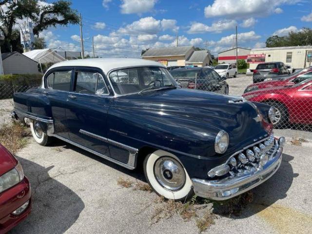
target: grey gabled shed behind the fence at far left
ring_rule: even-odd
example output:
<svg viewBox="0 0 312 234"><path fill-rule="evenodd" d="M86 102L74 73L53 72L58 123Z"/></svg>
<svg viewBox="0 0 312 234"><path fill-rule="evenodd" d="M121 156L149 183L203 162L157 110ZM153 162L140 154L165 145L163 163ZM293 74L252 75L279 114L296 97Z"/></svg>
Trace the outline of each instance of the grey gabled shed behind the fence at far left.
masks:
<svg viewBox="0 0 312 234"><path fill-rule="evenodd" d="M1 54L4 74L31 74L39 73L38 63L33 59L20 54L10 52Z"/></svg>

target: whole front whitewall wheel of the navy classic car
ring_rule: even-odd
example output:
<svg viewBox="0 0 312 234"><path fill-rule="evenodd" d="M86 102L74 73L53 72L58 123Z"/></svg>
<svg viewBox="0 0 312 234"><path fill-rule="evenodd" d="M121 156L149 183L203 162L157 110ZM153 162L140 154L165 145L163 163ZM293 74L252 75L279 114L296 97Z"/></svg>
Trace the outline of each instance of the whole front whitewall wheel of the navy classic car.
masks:
<svg viewBox="0 0 312 234"><path fill-rule="evenodd" d="M182 201L194 194L189 175L173 154L157 150L146 156L143 169L146 180L156 194L166 199Z"/></svg>

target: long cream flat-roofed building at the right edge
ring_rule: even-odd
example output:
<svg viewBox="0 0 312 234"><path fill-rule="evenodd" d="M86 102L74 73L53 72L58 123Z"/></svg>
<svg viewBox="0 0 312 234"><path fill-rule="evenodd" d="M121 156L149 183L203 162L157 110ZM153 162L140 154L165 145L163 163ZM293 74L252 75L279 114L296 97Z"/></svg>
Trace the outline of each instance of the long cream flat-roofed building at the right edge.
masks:
<svg viewBox="0 0 312 234"><path fill-rule="evenodd" d="M312 65L312 46L288 46L252 49L250 55L262 56L265 62L283 62L292 68L305 68ZM258 63L250 63L254 70Z"/></svg>

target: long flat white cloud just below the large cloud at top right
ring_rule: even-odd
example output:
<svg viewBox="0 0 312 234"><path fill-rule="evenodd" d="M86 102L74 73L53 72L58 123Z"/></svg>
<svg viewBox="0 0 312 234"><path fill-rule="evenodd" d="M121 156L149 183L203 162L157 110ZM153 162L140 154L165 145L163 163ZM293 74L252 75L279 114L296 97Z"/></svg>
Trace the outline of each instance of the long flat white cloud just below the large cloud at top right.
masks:
<svg viewBox="0 0 312 234"><path fill-rule="evenodd" d="M219 20L214 22L211 26L203 23L193 22L187 32L189 34L206 32L221 33L224 30L234 29L236 24L237 22L235 20Z"/></svg>

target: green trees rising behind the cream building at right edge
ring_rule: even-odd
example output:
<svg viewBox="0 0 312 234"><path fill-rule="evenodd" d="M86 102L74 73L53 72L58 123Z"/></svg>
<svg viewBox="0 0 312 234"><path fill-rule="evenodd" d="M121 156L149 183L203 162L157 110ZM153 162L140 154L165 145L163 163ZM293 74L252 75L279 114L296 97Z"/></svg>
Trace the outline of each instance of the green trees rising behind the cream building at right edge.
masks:
<svg viewBox="0 0 312 234"><path fill-rule="evenodd" d="M288 36L279 37L277 35L267 39L267 47L280 46L298 46L298 45L312 45L312 29L302 28L298 32L290 32Z"/></svg>

